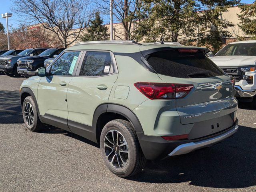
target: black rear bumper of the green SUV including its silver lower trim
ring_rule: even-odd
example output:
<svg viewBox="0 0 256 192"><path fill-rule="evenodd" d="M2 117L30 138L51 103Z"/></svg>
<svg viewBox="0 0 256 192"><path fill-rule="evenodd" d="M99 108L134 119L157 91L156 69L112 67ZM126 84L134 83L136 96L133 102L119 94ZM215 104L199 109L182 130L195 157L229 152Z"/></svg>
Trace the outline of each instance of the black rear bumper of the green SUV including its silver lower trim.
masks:
<svg viewBox="0 0 256 192"><path fill-rule="evenodd" d="M141 132L137 132L137 136L146 159L161 160L169 156L186 154L200 148L212 146L232 136L237 130L238 120L226 130L198 140L167 141L160 136L147 136Z"/></svg>

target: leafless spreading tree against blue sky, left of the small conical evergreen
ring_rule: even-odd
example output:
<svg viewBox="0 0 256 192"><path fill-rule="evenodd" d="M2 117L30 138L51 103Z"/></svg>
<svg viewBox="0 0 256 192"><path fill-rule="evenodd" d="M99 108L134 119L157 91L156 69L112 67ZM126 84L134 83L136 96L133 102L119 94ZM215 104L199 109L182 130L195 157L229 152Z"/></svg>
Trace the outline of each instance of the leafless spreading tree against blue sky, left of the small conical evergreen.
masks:
<svg viewBox="0 0 256 192"><path fill-rule="evenodd" d="M30 24L50 30L64 47L76 42L88 26L89 0L12 0L12 11ZM76 30L74 30L76 28Z"/></svg>

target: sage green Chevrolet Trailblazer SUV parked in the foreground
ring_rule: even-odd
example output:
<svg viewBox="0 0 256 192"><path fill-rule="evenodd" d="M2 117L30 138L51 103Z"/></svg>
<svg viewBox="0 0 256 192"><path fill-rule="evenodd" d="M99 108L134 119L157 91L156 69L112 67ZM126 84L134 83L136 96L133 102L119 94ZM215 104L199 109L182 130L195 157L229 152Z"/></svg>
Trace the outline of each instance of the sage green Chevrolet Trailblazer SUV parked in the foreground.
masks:
<svg viewBox="0 0 256 192"><path fill-rule="evenodd" d="M146 160L212 146L238 130L234 80L177 43L81 42L20 87L27 128L44 124L100 144L120 177ZM90 157L88 157L90 158Z"/></svg>

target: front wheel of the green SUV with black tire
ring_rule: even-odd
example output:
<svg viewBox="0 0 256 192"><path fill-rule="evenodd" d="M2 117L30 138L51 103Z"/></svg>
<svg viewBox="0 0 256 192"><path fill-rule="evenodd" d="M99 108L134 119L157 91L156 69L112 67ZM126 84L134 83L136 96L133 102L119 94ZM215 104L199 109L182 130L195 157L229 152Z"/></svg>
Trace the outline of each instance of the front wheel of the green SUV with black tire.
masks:
<svg viewBox="0 0 256 192"><path fill-rule="evenodd" d="M28 114L28 109L31 109L30 106L32 108L32 111ZM38 132L42 128L44 128L44 124L40 121L40 119L38 117L37 110L36 110L36 104L35 104L32 96L28 96L25 98L25 100L22 104L22 115L23 115L23 120L25 122L25 125L30 131ZM31 118L32 116L34 119L33 121ZM30 118L30 121L28 121L28 118Z"/></svg>

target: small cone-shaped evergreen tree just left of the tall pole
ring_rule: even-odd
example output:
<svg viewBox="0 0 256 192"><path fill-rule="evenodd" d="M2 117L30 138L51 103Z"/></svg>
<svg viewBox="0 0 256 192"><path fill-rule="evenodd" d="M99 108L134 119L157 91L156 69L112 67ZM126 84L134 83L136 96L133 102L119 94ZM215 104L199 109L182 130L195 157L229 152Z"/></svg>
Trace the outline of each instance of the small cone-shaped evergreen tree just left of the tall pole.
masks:
<svg viewBox="0 0 256 192"><path fill-rule="evenodd" d="M103 20L100 18L100 13L95 13L94 20L90 20L89 27L86 29L87 33L80 39L82 41L102 41L108 40L108 28L103 25Z"/></svg>

